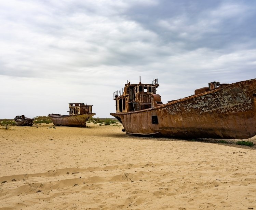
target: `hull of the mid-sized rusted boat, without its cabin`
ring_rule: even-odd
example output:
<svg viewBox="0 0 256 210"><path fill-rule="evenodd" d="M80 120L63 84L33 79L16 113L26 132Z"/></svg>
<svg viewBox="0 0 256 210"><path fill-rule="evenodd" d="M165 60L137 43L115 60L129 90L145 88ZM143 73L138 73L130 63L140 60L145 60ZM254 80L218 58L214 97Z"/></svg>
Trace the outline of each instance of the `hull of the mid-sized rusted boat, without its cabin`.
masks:
<svg viewBox="0 0 256 210"><path fill-rule="evenodd" d="M95 113L78 114L78 115L62 115L62 114L49 114L54 125L59 126L81 126L86 127L86 121L94 116Z"/></svg>

